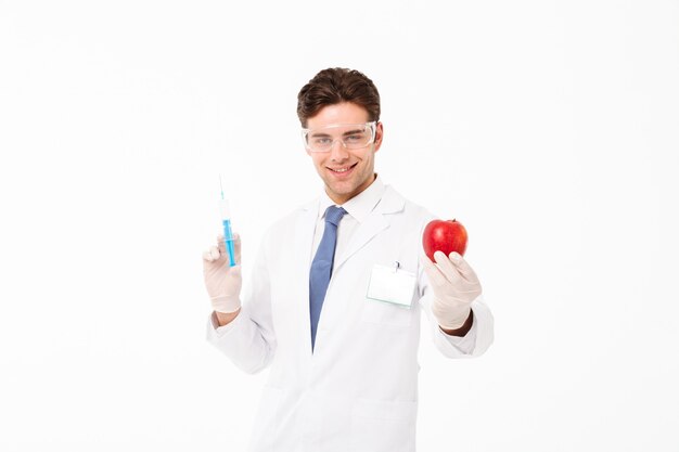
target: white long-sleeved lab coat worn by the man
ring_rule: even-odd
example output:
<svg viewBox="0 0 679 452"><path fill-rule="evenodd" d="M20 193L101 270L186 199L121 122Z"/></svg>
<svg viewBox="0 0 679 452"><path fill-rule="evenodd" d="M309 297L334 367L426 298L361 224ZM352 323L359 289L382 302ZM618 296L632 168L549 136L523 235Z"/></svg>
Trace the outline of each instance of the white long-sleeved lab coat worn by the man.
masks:
<svg viewBox="0 0 679 452"><path fill-rule="evenodd" d="M431 318L419 255L422 230L433 217L386 186L336 257L312 353L309 268L318 210L316 201L269 230L242 312L229 325L207 328L208 340L243 371L271 366L251 450L413 452L420 313ZM411 309L366 297L373 266L396 261L418 276ZM490 311L479 299L472 309L470 353L430 319L446 357L478 356L492 343Z"/></svg>

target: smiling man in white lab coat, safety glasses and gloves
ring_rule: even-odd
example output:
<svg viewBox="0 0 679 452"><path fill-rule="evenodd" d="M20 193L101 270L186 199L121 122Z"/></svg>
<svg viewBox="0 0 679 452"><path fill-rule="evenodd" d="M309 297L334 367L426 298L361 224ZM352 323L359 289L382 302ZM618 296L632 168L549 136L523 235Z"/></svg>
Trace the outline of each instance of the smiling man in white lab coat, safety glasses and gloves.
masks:
<svg viewBox="0 0 679 452"><path fill-rule="evenodd" d="M375 173L373 82L324 69L297 100L324 191L268 231L243 298L223 237L204 253L207 337L245 372L270 366L251 451L412 452L421 313L449 358L484 353L492 315L460 255L424 256L433 216ZM235 251L240 263L238 240Z"/></svg>

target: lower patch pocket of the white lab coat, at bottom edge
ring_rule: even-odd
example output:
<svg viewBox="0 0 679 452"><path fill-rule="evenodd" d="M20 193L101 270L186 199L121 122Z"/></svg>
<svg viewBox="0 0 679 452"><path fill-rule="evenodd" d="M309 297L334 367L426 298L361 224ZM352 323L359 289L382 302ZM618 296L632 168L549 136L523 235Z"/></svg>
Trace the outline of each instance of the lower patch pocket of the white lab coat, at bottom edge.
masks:
<svg viewBox="0 0 679 452"><path fill-rule="evenodd" d="M354 452L413 452L417 402L358 399L351 411Z"/></svg>

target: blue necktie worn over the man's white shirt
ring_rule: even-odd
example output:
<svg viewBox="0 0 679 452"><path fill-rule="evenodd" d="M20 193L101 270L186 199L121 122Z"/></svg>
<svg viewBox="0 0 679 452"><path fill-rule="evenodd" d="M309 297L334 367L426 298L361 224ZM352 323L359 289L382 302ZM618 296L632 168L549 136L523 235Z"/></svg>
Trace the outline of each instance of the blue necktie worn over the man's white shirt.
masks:
<svg viewBox="0 0 679 452"><path fill-rule="evenodd" d="M309 313L311 315L311 351L316 344L316 332L318 328L318 320L321 317L321 308L328 292L330 275L332 274L332 264L335 258L335 245L337 243L337 224L344 217L346 210L342 207L330 206L325 210L325 230L323 238L318 246L313 262L311 262L311 271L309 273Z"/></svg>

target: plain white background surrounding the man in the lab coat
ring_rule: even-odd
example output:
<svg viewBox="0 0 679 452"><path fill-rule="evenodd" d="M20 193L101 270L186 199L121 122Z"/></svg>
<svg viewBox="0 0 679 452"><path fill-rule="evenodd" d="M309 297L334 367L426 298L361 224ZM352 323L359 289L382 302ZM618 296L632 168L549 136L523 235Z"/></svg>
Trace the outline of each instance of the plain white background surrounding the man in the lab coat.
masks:
<svg viewBox="0 0 679 452"><path fill-rule="evenodd" d="M679 3L591 0L0 1L0 450L244 450L218 173L249 279L321 188L295 107L330 66L496 315L477 360L423 337L419 450L677 451Z"/></svg>

